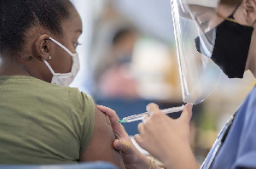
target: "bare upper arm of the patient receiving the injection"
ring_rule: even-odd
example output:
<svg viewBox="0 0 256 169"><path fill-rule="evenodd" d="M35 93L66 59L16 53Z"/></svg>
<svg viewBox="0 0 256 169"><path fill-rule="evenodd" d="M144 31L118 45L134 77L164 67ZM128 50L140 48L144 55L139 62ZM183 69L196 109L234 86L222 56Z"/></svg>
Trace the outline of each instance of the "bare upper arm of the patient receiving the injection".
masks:
<svg viewBox="0 0 256 169"><path fill-rule="evenodd" d="M119 168L125 168L121 155L113 149L115 136L109 120L95 106L95 124L90 144L80 155L80 161L109 161Z"/></svg>

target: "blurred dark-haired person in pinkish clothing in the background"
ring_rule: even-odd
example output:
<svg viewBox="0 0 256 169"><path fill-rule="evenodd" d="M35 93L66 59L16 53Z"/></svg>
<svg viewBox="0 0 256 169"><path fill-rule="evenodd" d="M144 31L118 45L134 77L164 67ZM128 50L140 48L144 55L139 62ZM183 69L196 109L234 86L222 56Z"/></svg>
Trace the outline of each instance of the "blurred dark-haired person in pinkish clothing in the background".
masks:
<svg viewBox="0 0 256 169"><path fill-rule="evenodd" d="M138 98L137 79L131 70L136 42L137 31L133 28L121 28L114 33L109 53L96 68L95 81L100 97Z"/></svg>

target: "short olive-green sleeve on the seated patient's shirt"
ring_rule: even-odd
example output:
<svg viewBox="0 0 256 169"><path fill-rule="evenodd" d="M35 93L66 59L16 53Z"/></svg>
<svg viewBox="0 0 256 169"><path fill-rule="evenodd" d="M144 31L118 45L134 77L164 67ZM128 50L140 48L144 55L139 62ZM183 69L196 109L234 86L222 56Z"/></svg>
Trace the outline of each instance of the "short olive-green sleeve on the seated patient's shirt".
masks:
<svg viewBox="0 0 256 169"><path fill-rule="evenodd" d="M78 88L69 89L69 113L73 121L75 134L80 143L80 154L86 149L92 138L95 121L95 104L93 99Z"/></svg>

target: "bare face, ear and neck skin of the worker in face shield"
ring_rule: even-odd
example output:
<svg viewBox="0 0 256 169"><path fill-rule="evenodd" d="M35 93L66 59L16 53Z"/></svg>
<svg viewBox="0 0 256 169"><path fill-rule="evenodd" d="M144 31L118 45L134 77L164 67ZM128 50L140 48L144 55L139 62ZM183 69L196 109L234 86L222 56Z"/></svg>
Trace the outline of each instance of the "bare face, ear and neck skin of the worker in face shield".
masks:
<svg viewBox="0 0 256 169"><path fill-rule="evenodd" d="M232 14L232 12L236 8L236 4L234 6L228 6L225 4L220 4L218 6L218 14L221 14L223 17L218 17L216 16L216 11L213 10L212 8L206 8L206 7L201 7L198 5L191 5L190 8L192 8L193 14L195 14L196 19L199 20L199 22L203 23L205 20L211 20L208 23L208 29L204 31L209 31L213 27L219 25L221 22L224 21L224 18L227 18ZM253 31L253 36L251 40L251 46L249 49L248 53L248 58L247 58L247 65L246 65L246 70L250 70L253 73L253 76L256 77L256 49L253 48L256 43L256 1L255 0L243 0L241 2L241 5L239 8L237 8L236 13L234 14L235 20L241 24L241 25L247 25L247 26L252 26L254 28ZM188 16L185 16L188 17ZM189 18L189 17L188 17Z"/></svg>

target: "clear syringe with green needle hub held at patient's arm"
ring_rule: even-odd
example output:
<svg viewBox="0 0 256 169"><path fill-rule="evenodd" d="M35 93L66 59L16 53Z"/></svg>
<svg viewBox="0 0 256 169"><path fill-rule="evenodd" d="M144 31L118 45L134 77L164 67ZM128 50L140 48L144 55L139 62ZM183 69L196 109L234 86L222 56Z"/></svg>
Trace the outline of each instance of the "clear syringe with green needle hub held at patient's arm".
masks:
<svg viewBox="0 0 256 169"><path fill-rule="evenodd" d="M178 111L182 111L184 109L184 105L179 106L179 107L172 107L169 109L165 109L165 110L161 110L163 113L165 114L170 114L170 113L175 113ZM142 114L138 114L138 115L131 115L131 116L127 116L124 117L123 119L116 121L116 122L120 122L120 123L124 123L124 122L133 122L133 121L139 121L139 120L143 120L144 115L147 115L148 112L142 113ZM115 123L115 122L113 122Z"/></svg>

